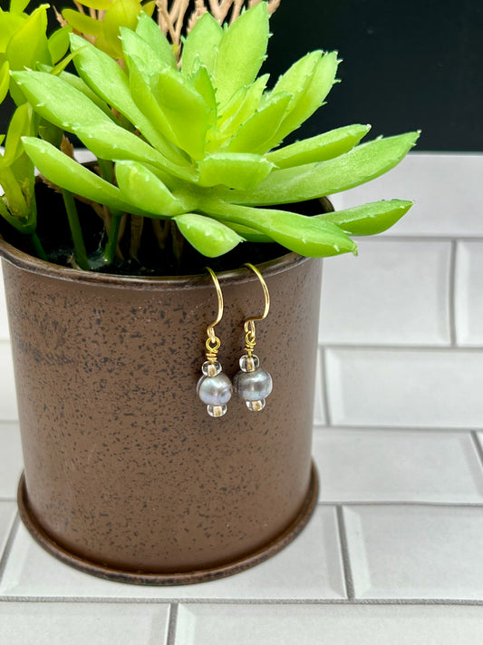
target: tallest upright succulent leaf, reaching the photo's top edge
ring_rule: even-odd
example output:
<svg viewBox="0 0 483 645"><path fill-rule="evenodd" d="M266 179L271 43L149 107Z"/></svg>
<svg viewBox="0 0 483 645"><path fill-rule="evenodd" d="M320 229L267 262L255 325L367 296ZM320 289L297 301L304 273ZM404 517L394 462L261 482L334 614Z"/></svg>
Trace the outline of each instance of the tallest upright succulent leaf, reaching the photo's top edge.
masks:
<svg viewBox="0 0 483 645"><path fill-rule="evenodd" d="M266 58L268 36L265 2L240 15L223 34L214 74L217 100L222 106L238 88L255 81Z"/></svg>

